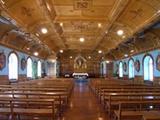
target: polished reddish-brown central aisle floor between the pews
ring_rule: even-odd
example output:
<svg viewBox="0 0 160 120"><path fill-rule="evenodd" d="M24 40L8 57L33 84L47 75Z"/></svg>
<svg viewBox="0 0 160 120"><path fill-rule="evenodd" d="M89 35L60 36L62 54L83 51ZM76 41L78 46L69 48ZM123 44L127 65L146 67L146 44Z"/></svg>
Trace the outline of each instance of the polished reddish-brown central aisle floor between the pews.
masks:
<svg viewBox="0 0 160 120"><path fill-rule="evenodd" d="M75 83L70 107L62 120L109 120L86 82Z"/></svg>

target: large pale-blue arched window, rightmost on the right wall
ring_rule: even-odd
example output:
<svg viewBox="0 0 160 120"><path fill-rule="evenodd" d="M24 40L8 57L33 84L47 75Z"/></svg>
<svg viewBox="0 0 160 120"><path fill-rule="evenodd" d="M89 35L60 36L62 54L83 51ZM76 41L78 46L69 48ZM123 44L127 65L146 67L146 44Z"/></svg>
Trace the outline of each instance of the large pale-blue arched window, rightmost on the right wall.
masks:
<svg viewBox="0 0 160 120"><path fill-rule="evenodd" d="M153 80L153 59L151 56L146 56L143 60L144 80Z"/></svg>

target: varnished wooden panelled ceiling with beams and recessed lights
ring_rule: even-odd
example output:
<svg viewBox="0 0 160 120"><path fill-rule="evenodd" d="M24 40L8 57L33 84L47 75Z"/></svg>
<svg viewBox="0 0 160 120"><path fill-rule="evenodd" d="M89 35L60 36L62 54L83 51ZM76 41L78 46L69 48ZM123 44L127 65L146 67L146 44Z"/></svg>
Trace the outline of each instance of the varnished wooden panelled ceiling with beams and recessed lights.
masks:
<svg viewBox="0 0 160 120"><path fill-rule="evenodd" d="M74 53L118 59L127 53L125 48L142 50L141 45L136 48L143 44L139 33L159 21L160 0L0 0L0 12L1 44L30 54L38 51L43 58L64 50L67 57ZM118 36L118 30L124 34Z"/></svg>

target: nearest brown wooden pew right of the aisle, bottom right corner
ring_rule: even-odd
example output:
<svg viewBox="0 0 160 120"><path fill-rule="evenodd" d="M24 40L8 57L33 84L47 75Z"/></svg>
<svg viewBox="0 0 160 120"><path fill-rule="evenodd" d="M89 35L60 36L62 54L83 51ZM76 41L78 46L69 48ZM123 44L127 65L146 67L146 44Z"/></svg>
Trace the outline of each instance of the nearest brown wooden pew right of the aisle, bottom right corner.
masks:
<svg viewBox="0 0 160 120"><path fill-rule="evenodd" d="M118 103L119 109L114 110L116 120L123 120L124 118L135 118L141 120L142 118L153 118L153 114L159 113L159 100L145 100L145 101L121 101ZM159 118L157 115L155 118Z"/></svg>

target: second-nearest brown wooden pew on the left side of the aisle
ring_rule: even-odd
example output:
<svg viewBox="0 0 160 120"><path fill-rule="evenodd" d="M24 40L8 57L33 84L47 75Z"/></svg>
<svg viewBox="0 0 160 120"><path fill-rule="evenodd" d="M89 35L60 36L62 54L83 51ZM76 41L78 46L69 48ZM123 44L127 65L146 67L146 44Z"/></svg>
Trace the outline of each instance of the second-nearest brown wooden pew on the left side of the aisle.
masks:
<svg viewBox="0 0 160 120"><path fill-rule="evenodd" d="M67 92L0 92L0 97L3 98L16 98L16 99L54 99L55 106L59 109L61 114L62 109L67 107L68 104L68 93Z"/></svg>

